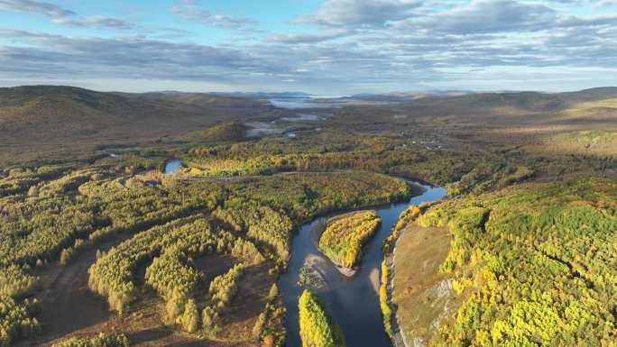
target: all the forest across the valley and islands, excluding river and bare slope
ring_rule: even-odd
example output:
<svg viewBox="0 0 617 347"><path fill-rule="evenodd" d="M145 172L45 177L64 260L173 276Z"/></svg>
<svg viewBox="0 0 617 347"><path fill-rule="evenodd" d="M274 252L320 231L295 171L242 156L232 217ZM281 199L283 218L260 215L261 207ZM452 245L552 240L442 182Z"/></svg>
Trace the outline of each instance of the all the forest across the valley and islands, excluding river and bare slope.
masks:
<svg viewBox="0 0 617 347"><path fill-rule="evenodd" d="M392 338L397 240L410 226L439 227L451 241L438 276L456 306L427 346L613 347L612 132L520 128L533 141L510 142L450 109L435 123L392 121L399 113L343 107L293 137L248 139L250 126L221 122L80 157L15 158L0 169L0 345L141 346L156 332L160 344L282 346L277 281L299 226L345 213L318 247L358 268L380 226L366 208L407 202L418 193L407 178L448 197L410 206L384 244L374 288ZM165 175L171 158L183 168ZM54 306L70 300L102 302L88 307L99 321L79 325ZM304 345L345 345L318 294L298 306Z"/></svg>

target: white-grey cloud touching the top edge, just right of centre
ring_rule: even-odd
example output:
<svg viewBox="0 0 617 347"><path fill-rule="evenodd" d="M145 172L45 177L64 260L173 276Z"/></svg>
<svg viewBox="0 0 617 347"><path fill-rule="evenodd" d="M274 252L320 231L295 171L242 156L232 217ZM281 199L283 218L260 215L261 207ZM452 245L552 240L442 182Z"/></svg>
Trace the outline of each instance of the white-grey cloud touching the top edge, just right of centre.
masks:
<svg viewBox="0 0 617 347"><path fill-rule="evenodd" d="M417 0L326 0L317 13L297 21L331 27L382 26L409 18L419 5Z"/></svg>

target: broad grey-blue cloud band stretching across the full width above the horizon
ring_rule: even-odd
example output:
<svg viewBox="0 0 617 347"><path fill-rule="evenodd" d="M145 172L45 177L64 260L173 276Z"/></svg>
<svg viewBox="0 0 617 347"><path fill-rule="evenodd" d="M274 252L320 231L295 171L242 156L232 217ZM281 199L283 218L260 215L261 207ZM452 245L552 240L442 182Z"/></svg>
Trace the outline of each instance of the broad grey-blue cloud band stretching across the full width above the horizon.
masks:
<svg viewBox="0 0 617 347"><path fill-rule="evenodd" d="M486 86L500 86L503 83L500 75L494 75L491 82L485 71L507 69L512 71L511 76L518 71L520 84L529 86L529 81L537 76L527 71L537 74L540 69L551 67L558 67L559 71L578 67L594 67L599 71L613 68L617 59L617 34L612 32L598 39L598 30L572 27L558 33L534 33L515 39L509 33L500 36L401 34L396 28L389 28L371 33L370 38L362 36L362 44L357 42L359 37L344 37L340 39L345 41L343 44L319 41L290 45L262 41L218 46L0 30L0 38L27 44L0 45L0 74L39 79L157 79L272 89L281 87L282 80L293 79L304 88L341 94L350 88L374 91L433 83L464 85L465 78L471 76L482 76Z"/></svg>

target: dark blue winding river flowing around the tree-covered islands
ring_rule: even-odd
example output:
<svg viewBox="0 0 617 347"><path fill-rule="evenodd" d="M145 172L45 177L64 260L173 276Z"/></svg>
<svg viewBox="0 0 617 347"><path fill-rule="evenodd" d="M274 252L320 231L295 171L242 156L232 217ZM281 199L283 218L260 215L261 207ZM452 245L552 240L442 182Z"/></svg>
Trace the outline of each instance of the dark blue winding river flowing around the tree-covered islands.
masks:
<svg viewBox="0 0 617 347"><path fill-rule="evenodd" d="M299 338L298 298L304 288L298 285L300 269L311 263L325 281L316 289L345 334L350 347L391 347L391 341L383 330L382 313L379 307L379 281L382 263L382 244L390 235L399 215L410 205L433 202L446 196L446 189L422 185L426 190L411 197L407 203L391 204L374 208L382 218L382 225L371 242L364 247L360 269L351 278L341 274L317 247L317 229L325 218L320 217L303 224L294 237L288 271L279 279L283 303L287 308L285 325L287 346L301 346Z"/></svg>

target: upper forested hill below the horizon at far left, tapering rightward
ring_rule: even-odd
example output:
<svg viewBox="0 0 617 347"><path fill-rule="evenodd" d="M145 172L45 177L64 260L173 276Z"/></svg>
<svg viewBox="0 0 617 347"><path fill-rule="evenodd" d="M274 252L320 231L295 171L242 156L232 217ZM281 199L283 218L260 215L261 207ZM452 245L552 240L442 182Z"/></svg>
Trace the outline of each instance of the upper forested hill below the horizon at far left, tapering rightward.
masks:
<svg viewBox="0 0 617 347"><path fill-rule="evenodd" d="M251 99L207 94L122 94L60 86L0 88L0 140L152 138L245 119L269 108Z"/></svg>

